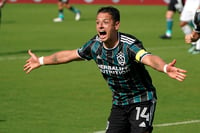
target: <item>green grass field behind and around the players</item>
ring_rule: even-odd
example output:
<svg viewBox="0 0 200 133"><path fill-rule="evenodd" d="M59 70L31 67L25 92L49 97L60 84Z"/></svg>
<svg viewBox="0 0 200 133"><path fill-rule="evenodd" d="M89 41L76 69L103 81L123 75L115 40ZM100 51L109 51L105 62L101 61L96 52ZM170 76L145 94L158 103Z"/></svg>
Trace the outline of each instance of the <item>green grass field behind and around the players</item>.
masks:
<svg viewBox="0 0 200 133"><path fill-rule="evenodd" d="M81 21L65 10L65 21L53 23L53 4L7 4L0 27L0 133L93 133L104 130L111 92L93 61L44 66L26 75L28 49L45 56L75 49L96 33L95 16L101 5L75 5ZM188 71L185 82L170 79L149 67L157 88L154 124L200 120L200 55L187 52L175 16L172 40L165 31L165 6L116 6L120 31L134 34L145 48ZM155 127L154 133L200 132L200 123Z"/></svg>

